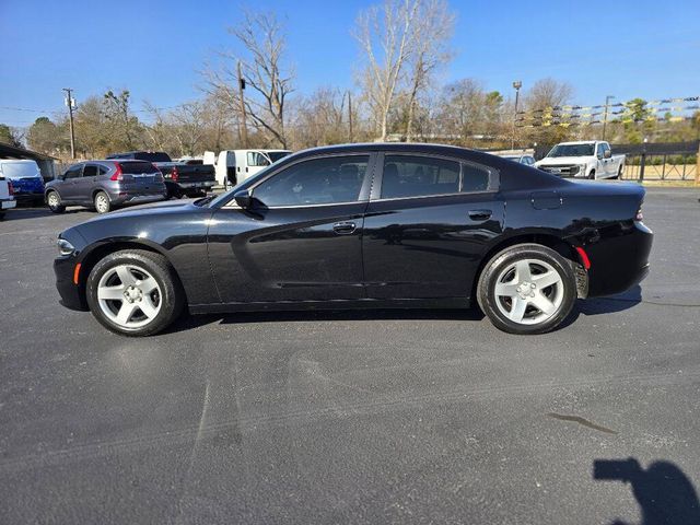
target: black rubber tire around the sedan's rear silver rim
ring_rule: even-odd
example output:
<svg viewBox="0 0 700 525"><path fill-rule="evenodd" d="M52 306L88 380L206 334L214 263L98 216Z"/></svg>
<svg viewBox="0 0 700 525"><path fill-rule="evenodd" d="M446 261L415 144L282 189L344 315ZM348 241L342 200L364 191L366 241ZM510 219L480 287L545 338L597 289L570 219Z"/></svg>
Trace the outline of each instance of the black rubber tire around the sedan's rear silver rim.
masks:
<svg viewBox="0 0 700 525"><path fill-rule="evenodd" d="M551 313L550 317L534 324L526 324L528 319L525 317L523 317L524 323L516 323L509 318L502 312L502 308L508 306L508 299L504 299L503 296L497 298L495 295L495 285L498 283L499 276L502 276L502 273L515 262L524 261L526 259L548 265L561 279L561 284L557 283L557 288L552 285L549 288L545 287L541 290L541 293L561 293L559 305ZM536 262L534 266L537 266ZM559 285L562 288L561 291L558 290ZM563 323L571 313L576 301L576 278L572 262L553 249L539 244L517 244L510 246L495 254L483 267L477 284L477 301L481 311L489 317L491 323L503 331L518 335L544 334L550 331ZM505 302L497 304L497 301ZM527 301L526 303L528 304L526 312L529 312L529 314L525 315L532 316L529 320L536 320L537 315L535 314L537 308L530 305ZM514 303L511 307L515 307ZM539 315L545 314L540 313Z"/></svg>

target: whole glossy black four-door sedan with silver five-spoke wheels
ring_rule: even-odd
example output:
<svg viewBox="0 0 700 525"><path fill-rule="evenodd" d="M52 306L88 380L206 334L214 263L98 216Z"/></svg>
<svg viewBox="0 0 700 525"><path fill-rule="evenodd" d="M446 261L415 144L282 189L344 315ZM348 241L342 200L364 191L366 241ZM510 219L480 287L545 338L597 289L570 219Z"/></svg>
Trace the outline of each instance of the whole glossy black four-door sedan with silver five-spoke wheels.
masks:
<svg viewBox="0 0 700 525"><path fill-rule="evenodd" d="M468 307L540 334L576 298L649 271L643 188L571 182L430 144L288 156L217 197L117 211L66 230L62 303L156 334L184 308Z"/></svg>

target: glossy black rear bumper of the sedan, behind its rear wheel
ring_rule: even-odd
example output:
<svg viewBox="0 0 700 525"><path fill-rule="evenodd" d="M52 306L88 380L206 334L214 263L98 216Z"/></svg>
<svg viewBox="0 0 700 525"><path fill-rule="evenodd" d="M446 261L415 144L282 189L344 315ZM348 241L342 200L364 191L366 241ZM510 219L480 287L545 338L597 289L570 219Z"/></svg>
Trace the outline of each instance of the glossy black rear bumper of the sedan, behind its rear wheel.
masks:
<svg viewBox="0 0 700 525"><path fill-rule="evenodd" d="M588 296L612 295L639 284L650 271L649 255L654 234L641 222L628 230L609 232L585 246L591 259Z"/></svg>

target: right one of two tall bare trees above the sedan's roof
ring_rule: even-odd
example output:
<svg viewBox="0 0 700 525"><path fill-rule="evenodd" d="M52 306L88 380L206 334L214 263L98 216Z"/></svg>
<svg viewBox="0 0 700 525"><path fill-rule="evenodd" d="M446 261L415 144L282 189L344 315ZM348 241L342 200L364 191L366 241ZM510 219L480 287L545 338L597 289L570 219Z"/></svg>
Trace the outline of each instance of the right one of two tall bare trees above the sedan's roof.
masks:
<svg viewBox="0 0 700 525"><path fill-rule="evenodd" d="M454 31L455 15L450 12L445 0L417 1L418 13L411 31L408 56L408 115L406 140L413 132L416 103L419 94L430 85L440 66L448 62L453 52L448 42Z"/></svg>

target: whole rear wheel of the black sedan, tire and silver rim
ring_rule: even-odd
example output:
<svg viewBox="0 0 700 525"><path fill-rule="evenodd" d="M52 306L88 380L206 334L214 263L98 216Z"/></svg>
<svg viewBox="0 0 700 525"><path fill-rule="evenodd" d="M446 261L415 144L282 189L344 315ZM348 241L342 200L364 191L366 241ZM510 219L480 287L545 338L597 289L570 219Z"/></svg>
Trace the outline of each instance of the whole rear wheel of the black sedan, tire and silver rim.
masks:
<svg viewBox="0 0 700 525"><path fill-rule="evenodd" d="M505 248L487 262L477 300L497 328L542 334L559 326L576 300L571 262L539 244Z"/></svg>

